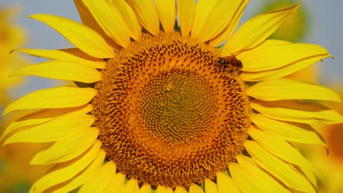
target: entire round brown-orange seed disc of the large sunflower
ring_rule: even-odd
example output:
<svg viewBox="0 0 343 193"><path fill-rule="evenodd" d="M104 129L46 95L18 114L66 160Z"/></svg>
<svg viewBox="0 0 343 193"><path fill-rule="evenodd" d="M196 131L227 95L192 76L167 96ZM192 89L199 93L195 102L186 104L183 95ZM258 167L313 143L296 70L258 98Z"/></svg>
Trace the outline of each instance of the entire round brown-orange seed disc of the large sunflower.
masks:
<svg viewBox="0 0 343 193"><path fill-rule="evenodd" d="M142 35L107 60L91 102L106 158L152 187L213 179L242 153L251 107L237 66L177 32Z"/></svg>

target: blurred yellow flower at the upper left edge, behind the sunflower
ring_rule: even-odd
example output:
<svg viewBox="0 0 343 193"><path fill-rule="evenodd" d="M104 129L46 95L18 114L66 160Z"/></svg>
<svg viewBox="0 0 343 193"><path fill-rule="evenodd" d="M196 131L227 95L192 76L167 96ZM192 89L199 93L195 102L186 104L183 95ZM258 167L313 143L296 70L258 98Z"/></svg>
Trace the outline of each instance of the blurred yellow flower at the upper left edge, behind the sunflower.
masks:
<svg viewBox="0 0 343 193"><path fill-rule="evenodd" d="M26 39L23 29L13 24L16 12L15 8L0 7L0 107L10 102L7 91L22 81L18 76L9 78L9 75L28 63L18 53L9 54L22 46Z"/></svg>

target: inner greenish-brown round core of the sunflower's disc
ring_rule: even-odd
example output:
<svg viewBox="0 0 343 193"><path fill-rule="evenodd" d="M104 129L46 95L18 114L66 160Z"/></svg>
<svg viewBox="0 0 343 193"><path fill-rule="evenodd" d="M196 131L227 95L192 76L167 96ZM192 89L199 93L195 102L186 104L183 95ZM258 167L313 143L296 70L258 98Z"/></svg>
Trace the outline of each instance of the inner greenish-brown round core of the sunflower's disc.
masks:
<svg viewBox="0 0 343 193"><path fill-rule="evenodd" d="M154 76L138 98L141 125L171 145L197 139L217 112L212 86L194 71L172 69Z"/></svg>

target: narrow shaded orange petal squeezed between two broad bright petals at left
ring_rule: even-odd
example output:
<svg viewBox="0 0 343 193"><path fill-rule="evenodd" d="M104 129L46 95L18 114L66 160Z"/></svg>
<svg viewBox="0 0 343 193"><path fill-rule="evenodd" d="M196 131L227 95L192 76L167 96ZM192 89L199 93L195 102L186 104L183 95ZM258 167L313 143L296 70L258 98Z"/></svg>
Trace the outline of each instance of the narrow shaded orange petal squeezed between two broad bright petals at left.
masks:
<svg viewBox="0 0 343 193"><path fill-rule="evenodd" d="M1 139L7 136L7 134L14 132L16 129L20 129L22 127L35 125L35 124L42 124L44 122L48 122L55 117L62 116L64 114L87 114L91 112L93 108L90 104L86 104L81 107L74 107L74 108L66 108L66 109L44 109L40 112L36 112L34 114L29 114L20 119L16 120L9 124L9 127L6 128L4 133L1 136Z"/></svg>

